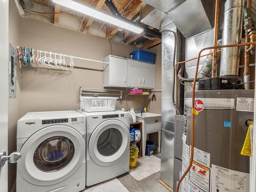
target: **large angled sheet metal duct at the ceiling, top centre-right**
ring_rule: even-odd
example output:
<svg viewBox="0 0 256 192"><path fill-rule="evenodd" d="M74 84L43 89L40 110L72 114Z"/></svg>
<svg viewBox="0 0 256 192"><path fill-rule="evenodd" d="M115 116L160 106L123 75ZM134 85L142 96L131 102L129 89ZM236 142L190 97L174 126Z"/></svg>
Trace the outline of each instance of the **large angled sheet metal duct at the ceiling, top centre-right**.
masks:
<svg viewBox="0 0 256 192"><path fill-rule="evenodd" d="M185 38L191 38L212 29L213 0L143 0L163 13L168 13Z"/></svg>

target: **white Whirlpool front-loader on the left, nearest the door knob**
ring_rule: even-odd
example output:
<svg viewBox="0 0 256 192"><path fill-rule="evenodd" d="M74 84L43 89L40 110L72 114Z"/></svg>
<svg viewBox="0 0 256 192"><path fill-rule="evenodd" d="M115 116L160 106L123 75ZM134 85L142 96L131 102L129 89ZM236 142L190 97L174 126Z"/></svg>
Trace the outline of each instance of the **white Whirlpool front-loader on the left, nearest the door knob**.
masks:
<svg viewBox="0 0 256 192"><path fill-rule="evenodd" d="M77 111L30 112L17 122L17 192L76 192L86 184L86 118Z"/></svg>

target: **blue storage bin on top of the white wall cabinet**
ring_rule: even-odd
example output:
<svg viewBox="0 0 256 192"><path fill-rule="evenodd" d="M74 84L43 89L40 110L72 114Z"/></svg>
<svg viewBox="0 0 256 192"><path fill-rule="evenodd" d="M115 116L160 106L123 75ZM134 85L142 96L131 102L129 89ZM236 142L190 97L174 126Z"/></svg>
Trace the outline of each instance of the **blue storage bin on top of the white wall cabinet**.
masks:
<svg viewBox="0 0 256 192"><path fill-rule="evenodd" d="M156 60L156 54L149 52L149 51L145 51L142 49L137 49L135 51L133 51L132 53L130 53L132 59L134 60L139 60L139 61L143 61L143 62L149 62L149 63L155 63Z"/></svg>

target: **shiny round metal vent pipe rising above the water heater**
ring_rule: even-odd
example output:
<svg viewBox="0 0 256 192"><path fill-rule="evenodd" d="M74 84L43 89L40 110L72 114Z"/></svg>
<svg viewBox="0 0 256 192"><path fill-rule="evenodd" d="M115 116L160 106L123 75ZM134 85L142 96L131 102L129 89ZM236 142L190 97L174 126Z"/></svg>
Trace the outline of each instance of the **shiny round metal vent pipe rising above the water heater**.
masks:
<svg viewBox="0 0 256 192"><path fill-rule="evenodd" d="M244 0L227 0L224 11L222 45L239 44L242 37ZM240 48L223 48L220 76L239 75Z"/></svg>

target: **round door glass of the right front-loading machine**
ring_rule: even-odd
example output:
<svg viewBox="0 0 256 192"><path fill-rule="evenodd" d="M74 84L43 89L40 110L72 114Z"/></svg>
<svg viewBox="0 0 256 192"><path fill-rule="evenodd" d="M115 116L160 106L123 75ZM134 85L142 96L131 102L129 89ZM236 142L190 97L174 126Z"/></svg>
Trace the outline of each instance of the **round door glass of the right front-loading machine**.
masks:
<svg viewBox="0 0 256 192"><path fill-rule="evenodd" d="M122 134L115 128L110 128L100 134L97 148L98 152L103 156L114 155L122 145Z"/></svg>

